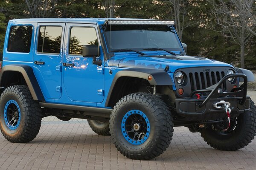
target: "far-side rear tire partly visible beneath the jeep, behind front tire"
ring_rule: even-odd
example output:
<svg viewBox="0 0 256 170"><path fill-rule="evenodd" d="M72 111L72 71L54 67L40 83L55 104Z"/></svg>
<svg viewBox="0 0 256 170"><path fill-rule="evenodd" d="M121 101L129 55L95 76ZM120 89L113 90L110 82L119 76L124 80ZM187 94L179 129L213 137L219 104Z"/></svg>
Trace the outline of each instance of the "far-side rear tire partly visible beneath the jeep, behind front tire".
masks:
<svg viewBox="0 0 256 170"><path fill-rule="evenodd" d="M93 132L98 135L110 136L109 121L87 120Z"/></svg>

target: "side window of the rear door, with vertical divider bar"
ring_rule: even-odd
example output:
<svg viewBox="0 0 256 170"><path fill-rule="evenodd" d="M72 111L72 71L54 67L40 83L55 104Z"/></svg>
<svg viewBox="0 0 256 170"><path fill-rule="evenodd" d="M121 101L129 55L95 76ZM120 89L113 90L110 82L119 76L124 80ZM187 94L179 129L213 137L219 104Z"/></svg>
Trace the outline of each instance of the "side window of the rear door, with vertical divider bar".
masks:
<svg viewBox="0 0 256 170"><path fill-rule="evenodd" d="M60 26L41 26L38 34L39 53L55 53L60 54L61 50L61 34Z"/></svg>

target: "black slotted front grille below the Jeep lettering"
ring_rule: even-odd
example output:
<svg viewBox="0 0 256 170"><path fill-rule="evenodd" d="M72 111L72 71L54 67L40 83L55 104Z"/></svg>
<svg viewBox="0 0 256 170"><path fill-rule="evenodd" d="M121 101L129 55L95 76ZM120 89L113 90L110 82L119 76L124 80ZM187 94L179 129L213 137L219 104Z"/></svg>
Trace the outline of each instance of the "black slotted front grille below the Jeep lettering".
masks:
<svg viewBox="0 0 256 170"><path fill-rule="evenodd" d="M189 82L191 91L209 88L218 83L222 77L225 76L224 71L211 71L211 72L190 72ZM225 90L226 85L223 83L221 89Z"/></svg>

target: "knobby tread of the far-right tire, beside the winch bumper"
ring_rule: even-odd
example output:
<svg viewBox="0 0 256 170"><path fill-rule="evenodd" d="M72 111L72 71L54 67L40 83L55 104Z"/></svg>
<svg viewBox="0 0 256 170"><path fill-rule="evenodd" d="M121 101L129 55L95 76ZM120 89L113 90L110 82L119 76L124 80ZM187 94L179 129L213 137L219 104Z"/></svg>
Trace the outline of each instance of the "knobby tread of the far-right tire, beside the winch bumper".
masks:
<svg viewBox="0 0 256 170"><path fill-rule="evenodd" d="M201 136L204 138L204 141L207 142L211 147L218 149L218 150L239 150L245 146L247 146L256 136L256 106L254 102L250 99L250 111L245 114L246 125L242 135L238 136L236 141L233 141L227 146L223 146L218 144L214 139L212 139L208 134L207 131L203 130L201 132Z"/></svg>

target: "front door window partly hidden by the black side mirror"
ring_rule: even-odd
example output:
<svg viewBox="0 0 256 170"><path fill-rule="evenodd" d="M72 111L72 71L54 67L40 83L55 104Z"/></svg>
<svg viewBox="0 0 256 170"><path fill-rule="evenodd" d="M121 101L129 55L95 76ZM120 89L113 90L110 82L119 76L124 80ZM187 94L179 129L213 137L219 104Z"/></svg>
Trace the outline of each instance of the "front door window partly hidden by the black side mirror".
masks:
<svg viewBox="0 0 256 170"><path fill-rule="evenodd" d="M98 45L94 28L73 27L70 32L69 54L82 55L83 45Z"/></svg>

